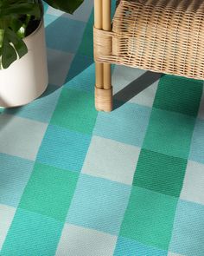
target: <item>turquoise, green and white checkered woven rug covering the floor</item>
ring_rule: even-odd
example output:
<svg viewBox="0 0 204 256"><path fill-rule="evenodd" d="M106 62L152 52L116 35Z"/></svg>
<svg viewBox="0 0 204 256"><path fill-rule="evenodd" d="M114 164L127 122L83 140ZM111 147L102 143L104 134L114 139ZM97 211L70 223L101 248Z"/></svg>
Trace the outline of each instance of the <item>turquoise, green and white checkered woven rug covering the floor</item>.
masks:
<svg viewBox="0 0 204 256"><path fill-rule="evenodd" d="M203 256L203 82L115 66L97 113L92 0L45 8L48 90L0 115L0 255Z"/></svg>

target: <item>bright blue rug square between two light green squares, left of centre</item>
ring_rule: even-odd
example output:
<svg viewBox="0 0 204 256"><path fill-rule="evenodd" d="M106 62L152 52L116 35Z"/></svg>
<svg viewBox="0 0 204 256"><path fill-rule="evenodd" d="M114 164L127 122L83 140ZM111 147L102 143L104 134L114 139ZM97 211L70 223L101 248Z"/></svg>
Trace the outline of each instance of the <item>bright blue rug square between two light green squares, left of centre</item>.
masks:
<svg viewBox="0 0 204 256"><path fill-rule="evenodd" d="M49 125L41 141L37 161L80 172L90 141L90 135L82 135L67 128Z"/></svg>

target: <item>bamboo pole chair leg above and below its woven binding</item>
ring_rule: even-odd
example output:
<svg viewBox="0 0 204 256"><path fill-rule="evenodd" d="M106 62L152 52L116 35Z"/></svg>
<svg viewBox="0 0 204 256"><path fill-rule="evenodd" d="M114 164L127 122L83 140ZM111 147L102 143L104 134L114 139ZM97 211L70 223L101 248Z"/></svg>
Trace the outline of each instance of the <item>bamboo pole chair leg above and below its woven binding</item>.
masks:
<svg viewBox="0 0 204 256"><path fill-rule="evenodd" d="M111 0L94 0L94 26L99 30L111 30ZM95 108L112 111L111 64L96 62Z"/></svg>

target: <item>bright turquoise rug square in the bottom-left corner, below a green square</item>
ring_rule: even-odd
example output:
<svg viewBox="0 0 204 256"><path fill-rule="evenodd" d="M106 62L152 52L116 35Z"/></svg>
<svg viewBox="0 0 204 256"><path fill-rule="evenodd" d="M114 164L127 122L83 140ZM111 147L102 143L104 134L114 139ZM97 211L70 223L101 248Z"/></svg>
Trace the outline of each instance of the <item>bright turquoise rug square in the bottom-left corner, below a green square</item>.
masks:
<svg viewBox="0 0 204 256"><path fill-rule="evenodd" d="M0 255L54 255L63 224L53 218L18 208Z"/></svg>

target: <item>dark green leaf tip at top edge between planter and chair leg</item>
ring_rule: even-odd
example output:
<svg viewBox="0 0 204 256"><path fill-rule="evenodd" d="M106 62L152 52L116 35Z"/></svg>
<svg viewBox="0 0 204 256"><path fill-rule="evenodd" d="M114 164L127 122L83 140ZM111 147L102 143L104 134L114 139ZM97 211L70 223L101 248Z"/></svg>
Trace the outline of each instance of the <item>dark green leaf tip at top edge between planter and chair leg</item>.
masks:
<svg viewBox="0 0 204 256"><path fill-rule="evenodd" d="M65 11L67 13L73 13L84 0L44 0L50 6L54 7L55 9L59 9Z"/></svg>

